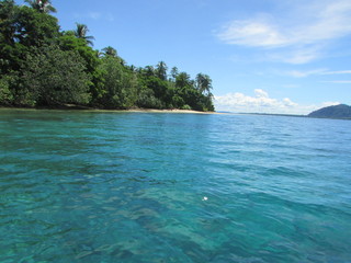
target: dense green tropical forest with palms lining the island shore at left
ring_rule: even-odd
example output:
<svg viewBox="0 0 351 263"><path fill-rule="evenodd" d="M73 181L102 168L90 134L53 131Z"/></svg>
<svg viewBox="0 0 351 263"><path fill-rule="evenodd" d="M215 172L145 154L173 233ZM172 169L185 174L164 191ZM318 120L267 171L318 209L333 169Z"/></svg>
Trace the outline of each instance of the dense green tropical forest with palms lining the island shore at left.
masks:
<svg viewBox="0 0 351 263"><path fill-rule="evenodd" d="M0 1L0 105L214 111L207 75L127 65L111 46L93 49L87 25L61 31L55 12L49 0Z"/></svg>

